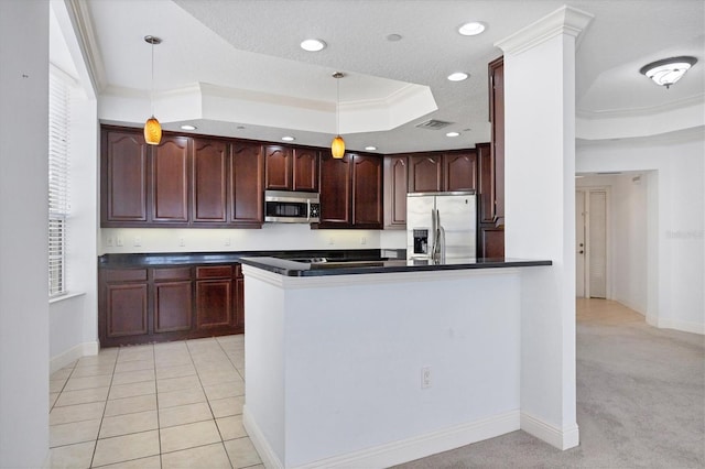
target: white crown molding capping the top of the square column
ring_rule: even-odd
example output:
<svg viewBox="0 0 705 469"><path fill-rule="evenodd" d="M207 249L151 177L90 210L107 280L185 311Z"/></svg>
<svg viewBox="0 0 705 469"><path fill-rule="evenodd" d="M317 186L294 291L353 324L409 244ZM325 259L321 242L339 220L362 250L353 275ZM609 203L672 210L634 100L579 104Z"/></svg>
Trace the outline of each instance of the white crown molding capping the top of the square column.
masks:
<svg viewBox="0 0 705 469"><path fill-rule="evenodd" d="M496 42L495 46L501 48L507 55L518 55L553 37L566 34L576 37L575 48L577 50L581 33L589 25L593 18L595 18L593 14L583 10L563 6L509 37Z"/></svg>

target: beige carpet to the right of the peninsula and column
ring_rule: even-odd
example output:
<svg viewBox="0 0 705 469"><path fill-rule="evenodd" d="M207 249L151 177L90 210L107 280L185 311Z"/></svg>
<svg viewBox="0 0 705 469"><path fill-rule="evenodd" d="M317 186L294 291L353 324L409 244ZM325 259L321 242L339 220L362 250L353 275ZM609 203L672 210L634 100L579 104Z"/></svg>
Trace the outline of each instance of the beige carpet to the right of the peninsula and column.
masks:
<svg viewBox="0 0 705 469"><path fill-rule="evenodd" d="M399 468L705 468L703 336L578 299L577 423L566 451L513 432Z"/></svg>

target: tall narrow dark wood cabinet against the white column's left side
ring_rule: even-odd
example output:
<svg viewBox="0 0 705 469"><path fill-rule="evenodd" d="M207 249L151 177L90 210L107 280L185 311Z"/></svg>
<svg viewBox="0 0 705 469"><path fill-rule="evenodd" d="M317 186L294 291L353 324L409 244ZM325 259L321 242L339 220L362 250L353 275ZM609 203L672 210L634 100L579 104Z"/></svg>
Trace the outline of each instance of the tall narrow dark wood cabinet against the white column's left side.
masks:
<svg viewBox="0 0 705 469"><path fill-rule="evenodd" d="M505 62L489 64L491 151L495 164L495 223L505 225Z"/></svg>

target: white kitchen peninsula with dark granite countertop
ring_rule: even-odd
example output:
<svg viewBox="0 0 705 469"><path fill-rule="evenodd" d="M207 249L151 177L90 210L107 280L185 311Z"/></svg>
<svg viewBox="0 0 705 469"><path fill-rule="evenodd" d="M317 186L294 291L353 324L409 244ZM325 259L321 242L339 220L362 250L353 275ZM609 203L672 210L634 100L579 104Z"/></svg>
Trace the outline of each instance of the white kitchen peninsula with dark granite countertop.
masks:
<svg viewBox="0 0 705 469"><path fill-rule="evenodd" d="M240 262L267 467L388 467L520 428L521 279L551 261Z"/></svg>

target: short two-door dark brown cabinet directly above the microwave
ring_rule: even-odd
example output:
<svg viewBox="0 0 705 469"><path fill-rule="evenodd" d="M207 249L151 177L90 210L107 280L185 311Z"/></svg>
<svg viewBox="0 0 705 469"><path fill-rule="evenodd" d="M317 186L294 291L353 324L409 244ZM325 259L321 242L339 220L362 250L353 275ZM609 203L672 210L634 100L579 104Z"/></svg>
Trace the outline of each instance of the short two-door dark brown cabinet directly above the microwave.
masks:
<svg viewBox="0 0 705 469"><path fill-rule="evenodd" d="M318 150L265 145L268 190L318 192Z"/></svg>

